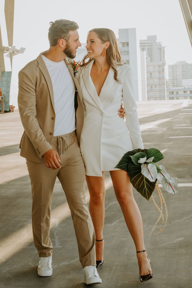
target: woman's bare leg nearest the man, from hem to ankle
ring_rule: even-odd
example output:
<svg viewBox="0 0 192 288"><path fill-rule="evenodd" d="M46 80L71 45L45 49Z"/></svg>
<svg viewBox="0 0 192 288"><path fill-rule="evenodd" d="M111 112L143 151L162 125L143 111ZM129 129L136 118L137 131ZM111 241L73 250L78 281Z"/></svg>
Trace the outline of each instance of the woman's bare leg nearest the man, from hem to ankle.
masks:
<svg viewBox="0 0 192 288"><path fill-rule="evenodd" d="M89 189L89 211L95 229L95 238L103 239L103 225L105 218L105 175L102 177L87 176L86 182ZM95 242L96 260L103 260L104 240Z"/></svg>

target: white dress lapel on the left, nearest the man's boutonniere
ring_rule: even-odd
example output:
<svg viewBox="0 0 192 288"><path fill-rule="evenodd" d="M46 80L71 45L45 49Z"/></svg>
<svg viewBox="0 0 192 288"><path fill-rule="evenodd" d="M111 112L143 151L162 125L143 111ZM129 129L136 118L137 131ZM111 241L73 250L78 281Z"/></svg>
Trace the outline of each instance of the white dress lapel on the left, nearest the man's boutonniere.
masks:
<svg viewBox="0 0 192 288"><path fill-rule="evenodd" d="M93 101L102 110L101 101L99 99L100 97L97 95L97 91L95 89L95 86L94 86L93 81L92 81L91 76L90 76L91 67L93 65L93 62L94 62L94 60L92 60L88 65L86 65L82 69L82 78L83 78L82 81L83 81L85 88L86 88L88 94L90 95L90 97L93 98Z"/></svg>

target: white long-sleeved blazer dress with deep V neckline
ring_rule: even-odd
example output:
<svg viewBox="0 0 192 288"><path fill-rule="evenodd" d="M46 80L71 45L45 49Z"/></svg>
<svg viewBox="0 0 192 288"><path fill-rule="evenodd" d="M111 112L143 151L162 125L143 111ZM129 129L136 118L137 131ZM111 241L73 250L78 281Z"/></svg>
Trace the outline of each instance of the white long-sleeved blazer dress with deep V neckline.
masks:
<svg viewBox="0 0 192 288"><path fill-rule="evenodd" d="M144 147L131 68L118 66L117 78L121 84L116 82L114 71L110 68L98 96L90 76L93 62L78 71L85 108L80 149L86 175L102 177L102 171L119 170L115 166L127 151ZM119 117L117 111L122 101L126 122Z"/></svg>

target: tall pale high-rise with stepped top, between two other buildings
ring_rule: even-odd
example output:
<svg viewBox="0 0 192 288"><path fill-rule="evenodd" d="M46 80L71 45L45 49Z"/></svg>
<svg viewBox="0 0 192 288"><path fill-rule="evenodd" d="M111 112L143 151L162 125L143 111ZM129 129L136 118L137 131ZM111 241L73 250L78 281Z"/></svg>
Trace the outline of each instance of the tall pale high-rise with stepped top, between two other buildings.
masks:
<svg viewBox="0 0 192 288"><path fill-rule="evenodd" d="M146 53L147 100L166 99L165 46L151 35L140 40L140 50Z"/></svg>

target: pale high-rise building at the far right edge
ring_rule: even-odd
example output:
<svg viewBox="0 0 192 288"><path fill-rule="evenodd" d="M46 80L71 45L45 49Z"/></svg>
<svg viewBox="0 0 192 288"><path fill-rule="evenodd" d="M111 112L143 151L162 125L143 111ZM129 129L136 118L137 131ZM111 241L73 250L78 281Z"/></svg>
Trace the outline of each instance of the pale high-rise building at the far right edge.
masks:
<svg viewBox="0 0 192 288"><path fill-rule="evenodd" d="M192 63L177 61L168 65L169 87L188 87L192 85Z"/></svg>

